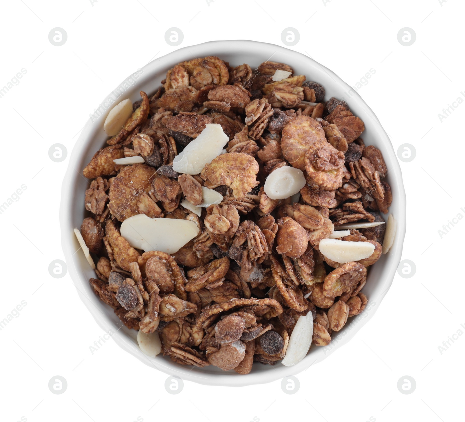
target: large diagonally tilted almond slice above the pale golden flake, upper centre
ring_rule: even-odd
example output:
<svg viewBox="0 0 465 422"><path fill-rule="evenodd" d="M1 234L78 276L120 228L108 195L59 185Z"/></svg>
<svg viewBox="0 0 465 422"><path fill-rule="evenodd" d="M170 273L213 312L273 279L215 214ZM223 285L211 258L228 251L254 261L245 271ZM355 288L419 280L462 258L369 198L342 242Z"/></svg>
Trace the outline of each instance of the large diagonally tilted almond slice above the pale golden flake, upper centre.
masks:
<svg viewBox="0 0 465 422"><path fill-rule="evenodd" d="M173 170L188 175L198 175L206 164L219 156L228 143L223 128L218 123L207 123L205 129L174 157Z"/></svg>

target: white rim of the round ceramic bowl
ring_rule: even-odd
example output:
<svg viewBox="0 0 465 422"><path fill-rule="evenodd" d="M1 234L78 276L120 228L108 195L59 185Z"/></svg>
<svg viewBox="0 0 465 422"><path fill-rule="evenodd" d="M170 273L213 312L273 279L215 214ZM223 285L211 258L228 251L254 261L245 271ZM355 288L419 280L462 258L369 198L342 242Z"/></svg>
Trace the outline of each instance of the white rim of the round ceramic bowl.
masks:
<svg viewBox="0 0 465 422"><path fill-rule="evenodd" d="M136 89L138 92L139 90L137 89L138 86L144 83L144 80L149 80L151 78L151 75L157 71L160 71L160 68L163 68L163 66L169 65L173 66L176 63L179 63L183 60L185 60L187 57L191 57L192 55L195 54L194 57L206 57L208 55L212 55L211 51L218 49L218 48L224 48L226 51L231 52L232 48L231 46L234 45L234 49L236 49L238 52L236 53L239 58L241 54L241 49L244 51L244 49L247 52L252 52L252 50L258 51L258 49L263 48L263 49L273 49L276 50L276 52L279 52L280 54L284 55L291 55L292 57L300 58L300 60L305 60L308 62L309 68L315 68L318 66L321 70L326 72L330 78L334 80L334 82L338 85L339 88L342 90L350 90L352 87L348 84L346 84L341 78L339 78L333 71L330 69L326 68L325 66L319 64L312 58L306 56L305 54L302 54L300 52L296 52L293 50L290 50L286 47L280 46L280 45L274 45L271 43L264 43L260 41L252 41L252 40L243 40L243 39L236 39L236 40L222 40L222 41L208 41L205 43L197 44L197 45L191 45L191 46L186 46L179 48L173 52L170 52L162 57L156 58L153 61L147 63L144 67L142 67L142 75L141 78L137 81L134 86L132 86L132 91ZM240 46L240 48L239 48ZM273 55L275 54L273 53ZM291 58L290 58L291 60ZM292 65L292 63L290 63ZM127 80L128 78L126 78ZM123 81L124 82L124 81ZM106 98L108 98L107 96ZM124 95L123 95L124 97ZM126 97L128 97L128 94L126 93ZM404 189L404 184L402 180L402 172L400 169L399 162L397 160L397 157L395 155L392 143L389 139L389 136L385 132L385 130L382 128L381 123L379 122L379 119L375 116L371 108L365 103L365 101L360 97L358 92L354 92L352 96L350 97L350 103L351 103L351 109L352 109L352 104L356 104L357 107L360 109L363 109L363 112L361 114L366 114L368 117L370 117L374 123L378 126L378 128L375 129L376 135L377 135L377 142L379 142L378 146L380 144L383 144L385 147L385 152L388 153L389 156L389 161L392 164L391 170L393 171L393 174L395 175L395 200L398 202L398 207L399 212L396 212L397 215L395 216L396 221L397 221L397 230L396 230L396 236L394 239L394 244L392 245L392 248L390 250L391 256L389 257L389 268L385 270L382 273L382 285L385 287L385 290L383 293L381 293L381 297L379 299L379 303L383 299L385 293L389 290L392 280L394 278L394 275L396 273L397 267L399 266L400 258L402 256L402 248L403 248L403 242L405 238L405 231L406 231L406 215L405 215L405 210L406 210L406 196L405 196L405 189ZM116 99L114 104L118 104L119 101L121 101L123 98L121 96ZM103 100L105 101L105 99ZM102 103L103 103L102 101ZM78 266L76 263L77 258L74 256L75 254L75 249L76 249L76 243L74 239L74 235L72 234L73 230L73 222L71 221L71 207L73 206L73 189L70 188L70 186L73 186L75 181L78 180L79 176L83 177L79 171L76 170L77 164L80 162L82 159L82 156L84 154L84 149L88 143L90 143L93 139L93 135L95 135L95 132L99 127L103 125L104 118L108 114L108 112L111 110L111 107L105 110L105 112L96 120L91 121L91 118L89 118L86 122L86 125L82 129L80 136L75 143L73 150L70 154L69 157L69 162L68 162L68 167L66 169L66 174L63 178L62 182L62 187L61 187L61 201L60 201L60 229L61 229L61 245L63 249L63 253L65 256L65 261L67 263L68 271L70 273L70 277L72 279L72 282L74 286L77 289L78 295L80 296L80 299L83 301L84 305L86 308L89 310L97 324L102 328L104 331L109 332L109 331L114 331L115 330L115 325L112 321L109 320L109 318L101 312L98 307L93 303L93 300L89 298L88 295L83 291L85 289L85 284L88 286L88 280L86 277L84 277L83 274L83 269L78 270ZM360 116L360 112L358 112L356 115ZM362 120L365 119L362 118ZM383 156L385 156L385 152L383 152ZM386 158L386 156L385 156ZM387 256L387 255L385 255ZM386 264L387 265L387 264ZM96 297L95 297L96 298ZM97 299L99 301L99 299ZM171 362L170 360L165 360L165 359L158 359L157 358L149 358L146 355L144 355L139 347L137 346L137 343L134 344L133 338L130 338L127 335L127 332L125 332L126 327L120 327L119 329L116 329L116 331L113 332L111 337L113 340L126 352L131 353L133 356L137 357L141 362L144 364L151 366L153 368L156 368L170 376L177 376L180 377L181 379L184 380L189 380L193 381L196 383L200 384L205 384L205 385L222 385L222 386L244 386L244 385L253 385L253 384L261 384L261 383L269 383L278 379L281 379L283 377L287 376L292 376L296 375L299 372L308 369L308 367L312 366L315 363L318 363L322 361L326 356L331 354L333 351L337 350L340 346L343 344L346 344L357 331L359 331L363 325L365 325L368 320L372 318L376 310L378 309L378 304L375 303L373 306L372 312L367 312L367 314L364 316L364 318L361 318L358 320L357 325L358 328L356 330L346 330L347 332L343 330L339 331L337 334L337 339L338 341L335 342L336 338L332 338L332 347L327 351L327 353L324 353L324 357L320 357L311 362L310 356L312 353L307 354L307 356L299 362L299 364L296 364L292 367L285 367L282 364L277 364L274 367L270 367L269 370L259 370L259 371L253 371L246 375L239 375L239 374L231 374L231 371L225 372L225 373L202 373L201 371L191 371L190 366L182 366L175 364ZM106 305L105 305L106 306ZM360 315L363 315L360 314ZM356 317L355 317L356 318ZM132 330L133 331L133 330ZM342 335L342 339L341 339ZM336 344L333 344L336 343ZM328 347L328 346L326 346ZM323 348L321 348L323 349ZM319 353L321 355L321 353ZM270 366L270 365L267 365Z"/></svg>

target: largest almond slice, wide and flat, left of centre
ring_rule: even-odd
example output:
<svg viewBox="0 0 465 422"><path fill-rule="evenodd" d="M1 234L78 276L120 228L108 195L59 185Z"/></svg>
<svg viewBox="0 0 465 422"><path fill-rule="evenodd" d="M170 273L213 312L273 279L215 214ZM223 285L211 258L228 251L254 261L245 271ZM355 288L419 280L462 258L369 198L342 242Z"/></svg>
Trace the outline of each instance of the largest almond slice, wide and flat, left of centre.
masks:
<svg viewBox="0 0 465 422"><path fill-rule="evenodd" d="M193 221L174 218L150 218L137 214L121 224L121 236L132 247L144 251L178 252L199 234L199 227Z"/></svg>

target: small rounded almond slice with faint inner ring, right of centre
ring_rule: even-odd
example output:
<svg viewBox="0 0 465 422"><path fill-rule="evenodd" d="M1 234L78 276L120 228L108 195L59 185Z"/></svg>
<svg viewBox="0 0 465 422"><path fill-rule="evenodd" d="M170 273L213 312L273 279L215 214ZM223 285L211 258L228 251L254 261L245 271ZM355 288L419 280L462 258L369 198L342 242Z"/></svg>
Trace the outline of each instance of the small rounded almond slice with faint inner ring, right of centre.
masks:
<svg viewBox="0 0 465 422"><path fill-rule="evenodd" d="M304 172L291 166L279 167L266 178L263 190L270 199L286 199L306 185Z"/></svg>

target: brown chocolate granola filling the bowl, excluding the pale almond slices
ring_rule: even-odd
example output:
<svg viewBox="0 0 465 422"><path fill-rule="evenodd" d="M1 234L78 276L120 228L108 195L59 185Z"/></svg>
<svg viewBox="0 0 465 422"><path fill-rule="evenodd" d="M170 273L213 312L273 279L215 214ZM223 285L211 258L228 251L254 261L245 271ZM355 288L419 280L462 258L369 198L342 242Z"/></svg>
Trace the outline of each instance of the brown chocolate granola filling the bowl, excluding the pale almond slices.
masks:
<svg viewBox="0 0 465 422"><path fill-rule="evenodd" d="M290 75L273 80L276 71ZM345 101L325 103L321 84L271 61L253 71L196 58L170 69L151 97L140 95L83 171L93 180L81 233L97 262L90 284L100 300L126 327L159 335L163 354L182 365L239 374L254 361L274 365L309 312L312 344L330 344L332 332L367 305L360 291L381 255L385 226L340 239L374 245L359 261L329 260L319 242L341 224L384 222L380 212L392 201L381 152L359 137L364 123ZM228 137L226 153L197 175L174 171L178 151L209 123ZM125 156L145 163L113 162ZM266 177L283 166L305 175L297 201L264 191ZM200 205L202 188L223 200L199 217L180 204ZM143 252L120 234L137 214L187 219L199 234L172 255Z"/></svg>

